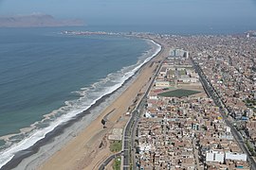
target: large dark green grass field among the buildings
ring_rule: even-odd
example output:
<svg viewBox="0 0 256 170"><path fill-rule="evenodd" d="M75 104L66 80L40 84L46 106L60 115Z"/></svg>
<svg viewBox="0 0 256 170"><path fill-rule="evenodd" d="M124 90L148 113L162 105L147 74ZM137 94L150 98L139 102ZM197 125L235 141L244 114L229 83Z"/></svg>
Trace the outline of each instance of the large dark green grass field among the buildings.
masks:
<svg viewBox="0 0 256 170"><path fill-rule="evenodd" d="M191 90L185 90L185 89L177 89L174 91L166 92L166 93L158 93L160 96L169 96L169 97L182 97L182 96L188 96L195 93L200 93L198 91L191 91Z"/></svg>

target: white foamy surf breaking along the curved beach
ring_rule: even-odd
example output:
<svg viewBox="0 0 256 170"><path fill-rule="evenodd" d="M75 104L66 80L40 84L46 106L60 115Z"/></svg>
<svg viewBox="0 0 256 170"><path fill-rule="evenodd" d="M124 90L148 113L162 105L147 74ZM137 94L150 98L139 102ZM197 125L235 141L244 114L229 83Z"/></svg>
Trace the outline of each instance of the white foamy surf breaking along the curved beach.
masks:
<svg viewBox="0 0 256 170"><path fill-rule="evenodd" d="M56 120L52 121L48 127L35 128L33 129L27 138L23 139L17 144L12 144L9 148L0 152L0 168L8 163L18 151L25 150L28 147L36 144L39 140L46 137L46 134L52 131L55 127L69 121L77 114L81 113L82 110L89 109L95 104L102 96L113 93L131 76L134 76L137 70L150 59L153 59L156 54L161 50L161 46L152 41L147 40L155 46L152 50L144 54L138 61L137 64L122 68L117 73L112 73L101 79L101 81L94 83L91 87L82 88L80 92L81 97L78 100L66 101L65 106L59 110L53 110L51 113L45 115L45 119L36 122L31 127L37 127L38 125L45 123L46 120L51 120L51 116L57 117ZM150 55L148 57L148 55ZM61 114L58 117L58 114Z"/></svg>

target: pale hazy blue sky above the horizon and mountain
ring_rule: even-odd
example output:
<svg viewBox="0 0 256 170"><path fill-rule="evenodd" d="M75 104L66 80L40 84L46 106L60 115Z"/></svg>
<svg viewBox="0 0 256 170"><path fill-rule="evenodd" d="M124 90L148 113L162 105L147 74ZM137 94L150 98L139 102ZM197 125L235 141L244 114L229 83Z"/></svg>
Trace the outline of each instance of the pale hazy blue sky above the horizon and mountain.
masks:
<svg viewBox="0 0 256 170"><path fill-rule="evenodd" d="M256 21L256 0L0 0L0 15L33 12L79 18L88 25L250 24Z"/></svg>

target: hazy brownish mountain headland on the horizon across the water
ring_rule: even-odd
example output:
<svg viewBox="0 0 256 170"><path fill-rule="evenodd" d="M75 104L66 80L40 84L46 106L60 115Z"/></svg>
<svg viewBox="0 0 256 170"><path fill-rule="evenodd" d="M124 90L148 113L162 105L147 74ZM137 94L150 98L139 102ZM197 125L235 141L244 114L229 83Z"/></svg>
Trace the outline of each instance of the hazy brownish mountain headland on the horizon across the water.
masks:
<svg viewBox="0 0 256 170"><path fill-rule="evenodd" d="M81 20L57 20L51 15L0 16L0 27L83 26Z"/></svg>

